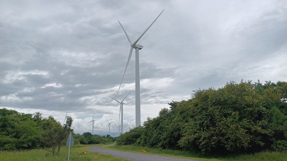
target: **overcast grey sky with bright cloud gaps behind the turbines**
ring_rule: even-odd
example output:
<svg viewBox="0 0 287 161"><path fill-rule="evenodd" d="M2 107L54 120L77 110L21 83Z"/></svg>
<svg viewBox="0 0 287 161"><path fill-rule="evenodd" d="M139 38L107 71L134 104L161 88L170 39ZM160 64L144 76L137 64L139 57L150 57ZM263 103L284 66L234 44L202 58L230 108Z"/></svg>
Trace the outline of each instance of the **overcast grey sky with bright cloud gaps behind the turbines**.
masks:
<svg viewBox="0 0 287 161"><path fill-rule="evenodd" d="M75 133L119 135L116 96L131 40L138 42L141 123L193 90L226 82L287 81L287 1L0 0L1 108L39 111ZM117 99L135 88L134 52ZM135 92L124 125L135 126ZM131 125L132 126L132 125ZM124 128L128 128L125 126ZM128 129L124 129L124 132ZM117 132L116 132L117 131Z"/></svg>

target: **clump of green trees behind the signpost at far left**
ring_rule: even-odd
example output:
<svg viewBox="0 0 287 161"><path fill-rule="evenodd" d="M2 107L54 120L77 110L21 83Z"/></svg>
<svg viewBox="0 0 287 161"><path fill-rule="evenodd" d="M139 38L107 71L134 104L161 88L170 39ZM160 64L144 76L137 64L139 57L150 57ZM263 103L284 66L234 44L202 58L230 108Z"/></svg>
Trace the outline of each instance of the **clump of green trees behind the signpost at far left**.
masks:
<svg viewBox="0 0 287 161"><path fill-rule="evenodd" d="M67 138L72 125L67 116L61 125L53 116L42 117L42 113L19 113L15 110L0 109L0 150L23 150L43 148L53 154L58 153Z"/></svg>

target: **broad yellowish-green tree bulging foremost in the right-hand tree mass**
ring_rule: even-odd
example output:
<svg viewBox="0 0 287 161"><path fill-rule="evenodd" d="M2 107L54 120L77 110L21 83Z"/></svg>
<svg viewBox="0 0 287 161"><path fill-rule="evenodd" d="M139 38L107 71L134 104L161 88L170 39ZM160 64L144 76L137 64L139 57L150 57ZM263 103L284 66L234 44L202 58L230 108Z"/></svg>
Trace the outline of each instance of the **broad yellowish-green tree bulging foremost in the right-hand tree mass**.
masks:
<svg viewBox="0 0 287 161"><path fill-rule="evenodd" d="M179 141L185 149L202 152L243 152L263 148L268 111L251 81L227 83L224 88L195 91L194 117ZM194 146L196 145L196 146Z"/></svg>

